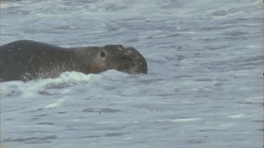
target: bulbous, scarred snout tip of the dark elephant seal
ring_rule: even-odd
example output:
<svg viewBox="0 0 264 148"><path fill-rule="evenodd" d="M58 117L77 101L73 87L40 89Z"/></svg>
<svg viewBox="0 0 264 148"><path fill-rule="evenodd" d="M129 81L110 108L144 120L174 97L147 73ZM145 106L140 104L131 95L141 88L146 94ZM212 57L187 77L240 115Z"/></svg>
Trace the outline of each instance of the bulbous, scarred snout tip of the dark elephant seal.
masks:
<svg viewBox="0 0 264 148"><path fill-rule="evenodd" d="M132 65L129 67L131 73L147 74L148 66L146 60L135 48L126 48L123 59L132 61Z"/></svg>

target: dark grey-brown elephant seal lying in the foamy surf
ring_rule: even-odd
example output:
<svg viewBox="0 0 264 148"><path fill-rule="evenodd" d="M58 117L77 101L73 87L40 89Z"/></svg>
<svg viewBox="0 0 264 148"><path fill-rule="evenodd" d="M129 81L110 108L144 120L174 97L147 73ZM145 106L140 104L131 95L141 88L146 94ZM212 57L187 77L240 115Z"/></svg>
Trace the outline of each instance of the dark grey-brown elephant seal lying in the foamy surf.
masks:
<svg viewBox="0 0 264 148"><path fill-rule="evenodd" d="M147 74L145 58L122 45L63 48L20 40L0 47L1 81L56 78L62 72L98 74L108 69Z"/></svg>

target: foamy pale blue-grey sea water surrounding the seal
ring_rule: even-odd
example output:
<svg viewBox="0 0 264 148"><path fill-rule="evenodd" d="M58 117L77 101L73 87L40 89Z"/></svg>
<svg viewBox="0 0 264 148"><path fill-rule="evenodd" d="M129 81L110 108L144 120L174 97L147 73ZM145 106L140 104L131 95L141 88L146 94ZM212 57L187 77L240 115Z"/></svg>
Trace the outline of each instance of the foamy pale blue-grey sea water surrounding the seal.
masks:
<svg viewBox="0 0 264 148"><path fill-rule="evenodd" d="M1 82L3 148L263 147L262 0L4 0L1 45L132 46L149 74Z"/></svg>

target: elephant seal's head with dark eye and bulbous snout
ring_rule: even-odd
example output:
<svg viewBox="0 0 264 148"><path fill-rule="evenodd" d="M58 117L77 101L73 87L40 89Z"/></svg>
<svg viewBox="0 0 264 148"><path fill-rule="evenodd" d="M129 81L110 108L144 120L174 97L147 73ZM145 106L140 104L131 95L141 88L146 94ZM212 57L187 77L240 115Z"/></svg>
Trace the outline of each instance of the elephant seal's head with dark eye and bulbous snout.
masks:
<svg viewBox="0 0 264 148"><path fill-rule="evenodd" d="M147 74L146 60L135 48L125 48L122 45L106 45L103 47L87 47L84 48L84 51L87 53L82 56L82 60L87 65L84 69L87 69L89 73L116 69L120 72Z"/></svg>

